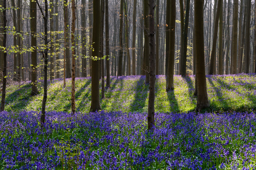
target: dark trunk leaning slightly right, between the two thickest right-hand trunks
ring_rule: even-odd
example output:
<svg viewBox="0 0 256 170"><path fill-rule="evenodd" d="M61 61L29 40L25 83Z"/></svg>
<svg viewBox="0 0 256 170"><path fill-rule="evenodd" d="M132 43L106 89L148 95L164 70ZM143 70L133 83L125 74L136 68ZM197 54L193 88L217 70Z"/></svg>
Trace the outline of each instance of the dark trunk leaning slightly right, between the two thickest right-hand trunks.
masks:
<svg viewBox="0 0 256 170"><path fill-rule="evenodd" d="M183 44L181 44L181 51L180 51L181 52L181 57L180 57L181 76L186 76L186 51L188 48L189 7L190 7L190 0L186 0L184 27L183 27L183 30L181 30L183 34Z"/></svg>

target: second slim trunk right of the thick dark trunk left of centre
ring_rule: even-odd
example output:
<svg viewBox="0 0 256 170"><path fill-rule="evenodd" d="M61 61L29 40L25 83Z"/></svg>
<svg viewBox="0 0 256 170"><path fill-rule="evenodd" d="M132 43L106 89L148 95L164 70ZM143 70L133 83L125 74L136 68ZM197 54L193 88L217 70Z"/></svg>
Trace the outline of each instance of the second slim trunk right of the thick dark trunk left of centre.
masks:
<svg viewBox="0 0 256 170"><path fill-rule="evenodd" d="M110 45L109 45L109 0L106 0L105 6L105 29L106 29L106 71L107 71L107 79L106 79L106 87L110 87Z"/></svg>

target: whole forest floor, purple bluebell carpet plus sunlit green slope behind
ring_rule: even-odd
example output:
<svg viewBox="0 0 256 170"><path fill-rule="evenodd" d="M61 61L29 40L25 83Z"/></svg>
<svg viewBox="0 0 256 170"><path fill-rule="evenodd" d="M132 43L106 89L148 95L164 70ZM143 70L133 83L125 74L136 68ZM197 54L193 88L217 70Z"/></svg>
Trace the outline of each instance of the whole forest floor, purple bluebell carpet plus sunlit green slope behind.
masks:
<svg viewBox="0 0 256 170"><path fill-rule="evenodd" d="M194 76L174 76L175 90L156 78L154 131L147 131L145 76L111 78L102 111L88 112L91 79L49 82L46 123L43 96L29 82L7 89L0 112L0 169L255 169L256 75L207 76L210 107L195 112Z"/></svg>

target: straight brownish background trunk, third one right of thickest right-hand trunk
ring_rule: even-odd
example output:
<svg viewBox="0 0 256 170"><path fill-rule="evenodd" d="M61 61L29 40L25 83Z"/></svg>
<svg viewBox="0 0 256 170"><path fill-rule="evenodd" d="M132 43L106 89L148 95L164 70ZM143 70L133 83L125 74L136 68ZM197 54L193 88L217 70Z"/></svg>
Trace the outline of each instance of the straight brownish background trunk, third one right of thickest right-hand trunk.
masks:
<svg viewBox="0 0 256 170"><path fill-rule="evenodd" d="M231 47L231 74L237 74L237 39L238 38L238 0L234 0L232 47Z"/></svg>

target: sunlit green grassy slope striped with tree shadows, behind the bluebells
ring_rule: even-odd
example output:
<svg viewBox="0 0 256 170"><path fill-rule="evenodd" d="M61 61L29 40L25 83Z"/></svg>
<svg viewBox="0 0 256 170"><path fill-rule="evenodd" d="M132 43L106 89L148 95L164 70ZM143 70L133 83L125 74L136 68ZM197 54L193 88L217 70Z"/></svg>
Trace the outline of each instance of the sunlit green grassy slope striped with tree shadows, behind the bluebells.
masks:
<svg viewBox="0 0 256 170"><path fill-rule="evenodd" d="M225 75L206 77L210 106L203 111L249 111L256 108L255 75ZM100 81L101 82L101 81ZM117 79L111 77L110 88L105 89L105 97L101 99L101 109L105 111L146 112L149 85L145 85L145 76L127 76ZM106 83L105 83L106 84ZM187 112L196 107L194 94L195 77L174 76L174 91L165 91L165 76L156 78L155 111ZM7 88L6 111L41 111L43 99L42 82L38 83L40 94L30 96L31 86L12 85ZM101 87L101 83L100 83ZM101 89L100 89L101 95ZM91 79L76 79L76 110L88 112L91 105ZM48 83L46 111L71 111L71 79Z"/></svg>

